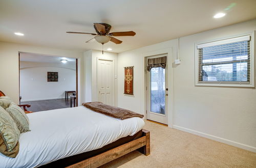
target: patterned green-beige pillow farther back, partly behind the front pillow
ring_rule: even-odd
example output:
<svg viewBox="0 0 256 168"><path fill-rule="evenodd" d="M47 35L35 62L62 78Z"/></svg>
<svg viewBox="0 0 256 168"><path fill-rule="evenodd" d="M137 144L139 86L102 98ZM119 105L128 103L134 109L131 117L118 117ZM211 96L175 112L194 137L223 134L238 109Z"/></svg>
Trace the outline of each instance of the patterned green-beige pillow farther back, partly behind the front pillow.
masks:
<svg viewBox="0 0 256 168"><path fill-rule="evenodd" d="M29 118L25 114L24 110L20 108L17 104L11 103L6 111L15 121L20 133L28 132L29 130Z"/></svg>

